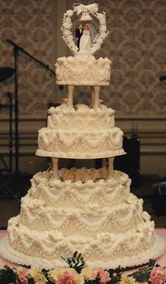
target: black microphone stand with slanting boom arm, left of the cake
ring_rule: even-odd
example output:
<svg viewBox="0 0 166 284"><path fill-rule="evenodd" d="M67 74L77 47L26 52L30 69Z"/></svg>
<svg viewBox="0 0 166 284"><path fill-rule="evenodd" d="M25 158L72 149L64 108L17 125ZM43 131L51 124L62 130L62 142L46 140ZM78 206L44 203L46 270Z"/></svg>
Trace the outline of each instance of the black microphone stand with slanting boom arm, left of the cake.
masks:
<svg viewBox="0 0 166 284"><path fill-rule="evenodd" d="M23 52L29 56L32 60L38 63L41 67L48 70L51 74L56 76L56 73L49 68L49 65L44 64L42 61L39 61L37 58L29 54L29 52L25 51L23 47L20 47L15 42L12 42L11 39L7 39L7 42L13 46L13 53L14 53L14 66L15 66L15 175L20 174L19 171L19 134L18 134L18 51Z"/></svg>

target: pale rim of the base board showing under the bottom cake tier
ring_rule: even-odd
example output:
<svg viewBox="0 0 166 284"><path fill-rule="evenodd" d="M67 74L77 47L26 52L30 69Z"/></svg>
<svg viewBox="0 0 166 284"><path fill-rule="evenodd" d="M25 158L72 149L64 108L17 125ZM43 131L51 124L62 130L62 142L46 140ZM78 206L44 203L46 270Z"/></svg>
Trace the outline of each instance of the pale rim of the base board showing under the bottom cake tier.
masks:
<svg viewBox="0 0 166 284"><path fill-rule="evenodd" d="M0 254L4 259L11 261L15 264L23 265L23 266L39 266L40 268L51 269L55 267L65 267L65 261L63 259L55 260L55 261L47 261L46 259L39 259L37 257L29 257L20 254L20 256L16 256L11 251L8 250L8 236L6 235L0 240ZM136 266L141 266L147 264L149 259L157 259L160 257L166 249L165 240L156 235L155 245L151 249L146 249L145 252L141 252L141 254L136 255L134 257L123 257L116 260L110 261L95 261L95 264L90 261L85 262L87 266L91 268L103 267L103 268L117 268L121 266L123 270L129 270L129 268L133 268Z"/></svg>

